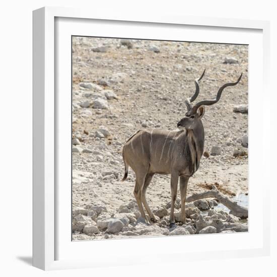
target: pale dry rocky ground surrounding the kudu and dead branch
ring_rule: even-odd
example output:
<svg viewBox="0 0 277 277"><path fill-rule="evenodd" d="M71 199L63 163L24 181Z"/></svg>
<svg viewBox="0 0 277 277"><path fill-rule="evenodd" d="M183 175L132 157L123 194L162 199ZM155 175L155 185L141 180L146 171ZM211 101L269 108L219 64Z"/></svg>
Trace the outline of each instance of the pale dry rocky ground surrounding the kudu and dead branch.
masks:
<svg viewBox="0 0 277 277"><path fill-rule="evenodd" d="M176 129L204 68L196 101L214 98L242 72L237 86L206 107L206 153L187 195L215 183L230 197L247 195L247 57L246 45L73 37L73 240L247 231L215 199L187 203L187 224L169 228L169 175L155 175L148 188L160 220L147 224L133 196L132 170L120 181L127 138L143 128ZM175 208L178 222L178 199Z"/></svg>

